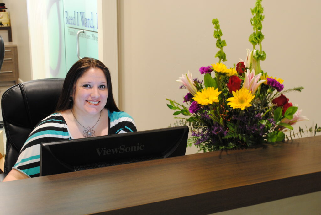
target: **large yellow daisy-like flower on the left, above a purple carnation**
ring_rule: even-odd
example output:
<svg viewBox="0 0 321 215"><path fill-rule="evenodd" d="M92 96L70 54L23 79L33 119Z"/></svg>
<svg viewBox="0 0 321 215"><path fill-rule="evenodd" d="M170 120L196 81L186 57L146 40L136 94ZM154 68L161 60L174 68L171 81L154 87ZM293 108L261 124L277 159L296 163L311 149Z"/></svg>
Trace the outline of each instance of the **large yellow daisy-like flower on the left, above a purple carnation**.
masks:
<svg viewBox="0 0 321 215"><path fill-rule="evenodd" d="M220 94L221 91L219 91L218 88L215 89L215 87L207 87L201 92L198 91L193 99L199 104L207 105L212 104L213 102L219 102L218 96Z"/></svg>

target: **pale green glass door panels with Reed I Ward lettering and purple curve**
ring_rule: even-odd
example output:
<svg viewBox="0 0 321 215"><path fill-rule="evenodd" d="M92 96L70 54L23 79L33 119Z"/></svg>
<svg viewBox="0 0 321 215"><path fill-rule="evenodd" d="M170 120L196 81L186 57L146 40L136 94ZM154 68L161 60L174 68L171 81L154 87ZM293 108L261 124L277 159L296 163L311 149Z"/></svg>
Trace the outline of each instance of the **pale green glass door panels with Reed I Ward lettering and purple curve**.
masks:
<svg viewBox="0 0 321 215"><path fill-rule="evenodd" d="M47 0L50 78L80 58L98 58L97 1Z"/></svg>

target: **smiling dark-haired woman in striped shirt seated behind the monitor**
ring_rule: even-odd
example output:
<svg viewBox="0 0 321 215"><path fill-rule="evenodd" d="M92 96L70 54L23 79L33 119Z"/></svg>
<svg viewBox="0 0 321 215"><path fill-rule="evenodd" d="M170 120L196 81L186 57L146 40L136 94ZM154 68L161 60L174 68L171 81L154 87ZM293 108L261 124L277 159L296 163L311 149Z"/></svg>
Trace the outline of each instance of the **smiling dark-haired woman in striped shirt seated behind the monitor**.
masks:
<svg viewBox="0 0 321 215"><path fill-rule="evenodd" d="M42 142L133 131L133 118L114 101L108 68L97 59L82 58L66 75L56 112L36 125L3 181L39 176Z"/></svg>

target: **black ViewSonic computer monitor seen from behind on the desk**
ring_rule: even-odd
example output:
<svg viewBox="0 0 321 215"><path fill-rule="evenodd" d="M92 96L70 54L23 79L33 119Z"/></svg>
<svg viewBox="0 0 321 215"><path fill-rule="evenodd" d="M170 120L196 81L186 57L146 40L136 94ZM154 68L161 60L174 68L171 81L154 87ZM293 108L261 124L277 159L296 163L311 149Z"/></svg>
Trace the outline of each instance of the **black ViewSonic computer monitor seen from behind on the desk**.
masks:
<svg viewBox="0 0 321 215"><path fill-rule="evenodd" d="M188 127L41 143L40 176L185 155Z"/></svg>

